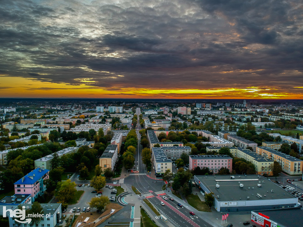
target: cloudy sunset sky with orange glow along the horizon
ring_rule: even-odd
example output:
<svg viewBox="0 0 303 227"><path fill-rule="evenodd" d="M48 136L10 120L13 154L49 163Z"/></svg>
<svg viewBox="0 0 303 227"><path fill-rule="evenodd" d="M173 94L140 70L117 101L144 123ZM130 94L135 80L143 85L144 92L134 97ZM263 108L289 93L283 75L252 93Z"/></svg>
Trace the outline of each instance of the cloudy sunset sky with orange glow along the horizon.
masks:
<svg viewBox="0 0 303 227"><path fill-rule="evenodd" d="M303 99L302 0L0 6L0 97Z"/></svg>

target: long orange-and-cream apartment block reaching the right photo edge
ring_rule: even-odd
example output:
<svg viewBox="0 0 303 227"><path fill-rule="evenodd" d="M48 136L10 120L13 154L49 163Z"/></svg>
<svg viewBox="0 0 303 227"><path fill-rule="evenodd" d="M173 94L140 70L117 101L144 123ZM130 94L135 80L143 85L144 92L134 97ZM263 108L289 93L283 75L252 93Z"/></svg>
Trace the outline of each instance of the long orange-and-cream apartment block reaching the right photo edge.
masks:
<svg viewBox="0 0 303 227"><path fill-rule="evenodd" d="M302 175L302 160L263 146L258 146L256 150L259 155L277 161L285 173L290 175Z"/></svg>

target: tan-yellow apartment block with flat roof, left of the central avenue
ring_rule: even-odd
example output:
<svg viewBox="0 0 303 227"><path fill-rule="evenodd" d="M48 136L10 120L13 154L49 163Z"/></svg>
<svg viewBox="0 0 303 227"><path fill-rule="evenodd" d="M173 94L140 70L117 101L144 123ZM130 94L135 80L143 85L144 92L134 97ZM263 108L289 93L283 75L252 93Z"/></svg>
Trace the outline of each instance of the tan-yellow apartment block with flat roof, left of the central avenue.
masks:
<svg viewBox="0 0 303 227"><path fill-rule="evenodd" d="M104 171L107 168L114 170L118 158L118 145L110 144L99 158L99 165Z"/></svg>

